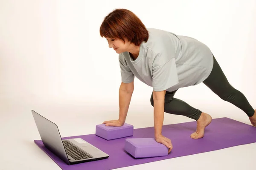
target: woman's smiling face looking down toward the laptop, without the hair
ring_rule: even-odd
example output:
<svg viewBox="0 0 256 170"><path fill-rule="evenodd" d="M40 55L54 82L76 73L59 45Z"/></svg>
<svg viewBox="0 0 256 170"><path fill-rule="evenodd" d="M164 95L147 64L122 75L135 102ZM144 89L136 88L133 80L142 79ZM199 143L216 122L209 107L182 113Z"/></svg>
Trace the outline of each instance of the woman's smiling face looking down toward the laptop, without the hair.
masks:
<svg viewBox="0 0 256 170"><path fill-rule="evenodd" d="M128 51L130 43L128 42L127 39L125 39L124 42L123 40L117 38L107 38L107 41L108 47L113 48L113 50L115 50L117 54Z"/></svg>

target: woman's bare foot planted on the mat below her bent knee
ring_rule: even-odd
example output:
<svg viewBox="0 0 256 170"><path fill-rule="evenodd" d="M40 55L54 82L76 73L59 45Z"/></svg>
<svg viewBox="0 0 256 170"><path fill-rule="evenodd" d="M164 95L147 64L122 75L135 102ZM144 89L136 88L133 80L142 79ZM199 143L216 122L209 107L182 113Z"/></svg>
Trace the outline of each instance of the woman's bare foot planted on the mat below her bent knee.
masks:
<svg viewBox="0 0 256 170"><path fill-rule="evenodd" d="M190 135L192 139L199 139L204 137L204 128L212 122L212 116L202 112L200 118L197 120L196 131Z"/></svg>

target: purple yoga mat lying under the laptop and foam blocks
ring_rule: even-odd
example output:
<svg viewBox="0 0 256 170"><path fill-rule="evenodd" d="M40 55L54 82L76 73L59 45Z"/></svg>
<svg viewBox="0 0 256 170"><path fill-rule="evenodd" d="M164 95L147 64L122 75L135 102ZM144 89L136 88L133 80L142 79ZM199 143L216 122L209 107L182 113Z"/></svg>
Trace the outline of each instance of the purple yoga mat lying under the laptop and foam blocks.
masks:
<svg viewBox="0 0 256 170"><path fill-rule="evenodd" d="M190 138L190 134L195 132L195 129L195 121L164 125L163 135L172 140L173 149L171 153L168 156L143 159L135 159L125 152L125 139L152 138L154 137L154 127L134 129L133 136L110 141L95 134L64 137L62 139L80 137L109 155L108 159L74 165L64 163L44 147L41 140L35 140L35 143L63 170L110 170L256 142L256 127L229 118L212 119L212 123L205 130L204 138L201 139Z"/></svg>

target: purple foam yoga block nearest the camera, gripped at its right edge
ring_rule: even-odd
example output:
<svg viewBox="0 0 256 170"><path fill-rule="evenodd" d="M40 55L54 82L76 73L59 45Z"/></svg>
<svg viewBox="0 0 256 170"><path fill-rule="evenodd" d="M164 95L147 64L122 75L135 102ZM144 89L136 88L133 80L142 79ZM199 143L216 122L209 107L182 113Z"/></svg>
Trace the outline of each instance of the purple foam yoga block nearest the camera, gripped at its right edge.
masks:
<svg viewBox="0 0 256 170"><path fill-rule="evenodd" d="M125 139L125 150L134 158L147 158L167 156L169 149L154 138L130 138Z"/></svg>

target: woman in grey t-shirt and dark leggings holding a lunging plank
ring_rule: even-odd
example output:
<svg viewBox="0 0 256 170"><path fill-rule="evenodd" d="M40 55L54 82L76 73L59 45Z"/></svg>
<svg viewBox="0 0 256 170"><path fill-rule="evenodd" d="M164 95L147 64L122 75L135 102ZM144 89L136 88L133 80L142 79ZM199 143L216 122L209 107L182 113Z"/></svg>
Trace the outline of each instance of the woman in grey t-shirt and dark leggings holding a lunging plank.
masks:
<svg viewBox="0 0 256 170"><path fill-rule="evenodd" d="M174 98L179 88L203 82L221 99L244 111L256 126L256 109L246 97L233 88L210 49L191 37L145 28L141 20L127 9L116 9L104 18L101 37L109 48L119 54L122 83L119 88L119 119L105 121L106 126L122 126L125 122L134 77L153 87L151 105L154 107L155 140L172 150L170 139L162 135L164 112L187 116L197 121L192 139L204 136L212 117L180 99Z"/></svg>

